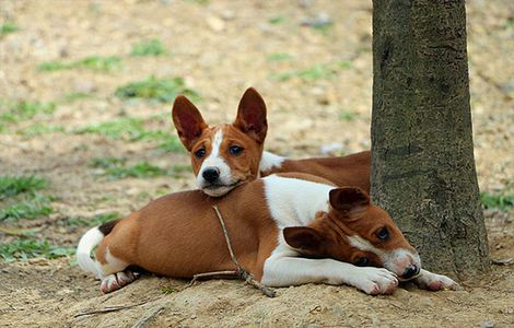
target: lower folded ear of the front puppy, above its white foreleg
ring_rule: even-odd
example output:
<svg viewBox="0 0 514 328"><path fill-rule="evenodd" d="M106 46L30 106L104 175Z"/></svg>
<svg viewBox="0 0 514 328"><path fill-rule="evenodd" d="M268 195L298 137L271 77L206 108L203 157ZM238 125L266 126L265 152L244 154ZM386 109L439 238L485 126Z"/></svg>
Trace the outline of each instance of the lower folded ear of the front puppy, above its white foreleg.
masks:
<svg viewBox="0 0 514 328"><path fill-rule="evenodd" d="M323 247L323 236L309 226L288 226L283 229L283 238L289 246L305 251L318 254Z"/></svg>

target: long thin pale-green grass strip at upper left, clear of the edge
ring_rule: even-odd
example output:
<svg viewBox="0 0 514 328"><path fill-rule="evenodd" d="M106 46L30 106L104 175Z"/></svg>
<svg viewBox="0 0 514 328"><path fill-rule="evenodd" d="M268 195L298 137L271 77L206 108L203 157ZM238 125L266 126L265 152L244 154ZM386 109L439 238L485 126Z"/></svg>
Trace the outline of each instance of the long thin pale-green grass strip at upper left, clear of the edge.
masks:
<svg viewBox="0 0 514 328"><path fill-rule="evenodd" d="M47 61L37 66L40 72L51 72L71 69L89 69L93 71L110 72L121 69L121 58L118 56L90 56L71 62Z"/></svg>

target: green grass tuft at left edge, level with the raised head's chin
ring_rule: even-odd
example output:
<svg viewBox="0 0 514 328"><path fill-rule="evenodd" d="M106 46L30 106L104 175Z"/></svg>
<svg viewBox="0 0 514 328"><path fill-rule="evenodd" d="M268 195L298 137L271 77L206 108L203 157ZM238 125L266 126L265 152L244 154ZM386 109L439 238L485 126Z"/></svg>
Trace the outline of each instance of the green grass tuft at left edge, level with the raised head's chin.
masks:
<svg viewBox="0 0 514 328"><path fill-rule="evenodd" d="M9 206L0 210L0 221L33 220L47 216L54 212L54 209L49 206L50 200L49 197L35 196Z"/></svg>

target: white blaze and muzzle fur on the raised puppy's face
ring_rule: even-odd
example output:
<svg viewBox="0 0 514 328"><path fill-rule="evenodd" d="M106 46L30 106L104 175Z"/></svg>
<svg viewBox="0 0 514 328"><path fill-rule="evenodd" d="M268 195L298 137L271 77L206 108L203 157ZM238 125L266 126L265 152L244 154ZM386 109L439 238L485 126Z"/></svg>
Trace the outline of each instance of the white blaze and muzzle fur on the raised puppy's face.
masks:
<svg viewBox="0 0 514 328"><path fill-rule="evenodd" d="M223 160L223 157L220 154L221 153L222 142L223 142L223 130L219 129L214 133L214 138L213 138L213 141L212 141L212 151L209 154L209 156L203 161L203 163L201 163L200 171L199 171L198 176L197 176L197 186L200 189L202 189L203 187L209 185L209 183L206 181L206 179L202 176L202 173L207 167L217 167L220 171L220 178L219 178L219 184L220 185L227 185L229 186L229 185L232 185L234 183L233 176L232 176L232 169L229 166L229 164L226 164L226 162ZM223 188L220 188L220 190L214 190L212 192L210 192L210 190L203 190L203 191L206 194L208 194L209 196L214 196L215 197L215 196L220 196L220 195L223 195L223 194L226 192L226 190L221 192L221 189L223 189Z"/></svg>

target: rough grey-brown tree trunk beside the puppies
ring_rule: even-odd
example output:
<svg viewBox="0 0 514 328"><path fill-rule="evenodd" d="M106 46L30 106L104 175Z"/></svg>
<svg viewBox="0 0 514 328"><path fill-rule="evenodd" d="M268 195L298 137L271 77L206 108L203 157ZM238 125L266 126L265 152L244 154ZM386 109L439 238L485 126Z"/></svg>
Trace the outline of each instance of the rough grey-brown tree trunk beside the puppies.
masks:
<svg viewBox="0 0 514 328"><path fill-rule="evenodd" d="M423 268L489 268L472 153L464 0L373 1L372 197Z"/></svg>

